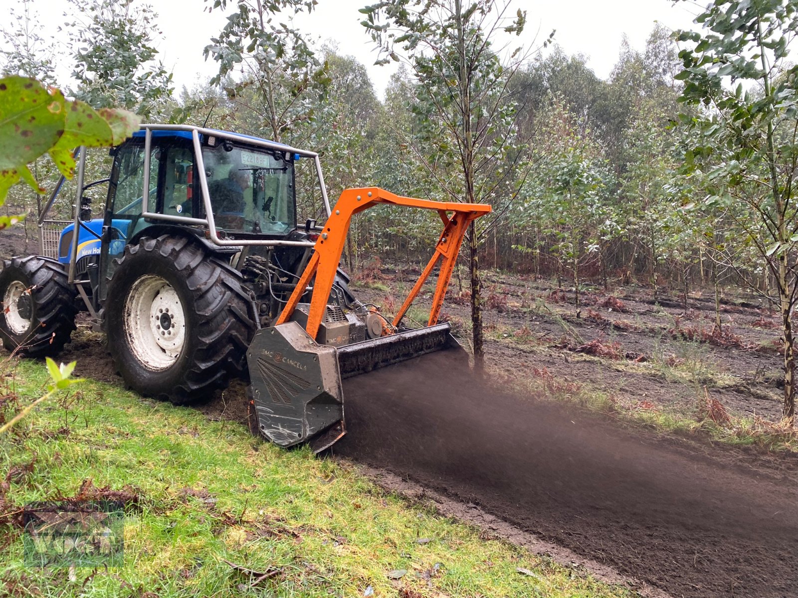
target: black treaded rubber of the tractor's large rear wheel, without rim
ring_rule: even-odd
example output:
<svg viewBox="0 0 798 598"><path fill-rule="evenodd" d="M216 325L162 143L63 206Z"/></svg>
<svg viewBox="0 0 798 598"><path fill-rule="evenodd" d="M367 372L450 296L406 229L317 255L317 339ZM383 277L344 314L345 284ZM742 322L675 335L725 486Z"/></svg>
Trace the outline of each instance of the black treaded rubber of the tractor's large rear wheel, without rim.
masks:
<svg viewBox="0 0 798 598"><path fill-rule="evenodd" d="M186 333L175 364L144 367L129 344L124 305L133 283L164 278L184 306ZM109 281L105 333L113 360L129 387L141 395L184 404L210 398L232 378L247 374L247 348L258 327L255 301L240 273L190 238L141 238L124 248Z"/></svg>

